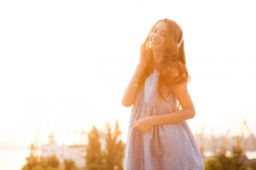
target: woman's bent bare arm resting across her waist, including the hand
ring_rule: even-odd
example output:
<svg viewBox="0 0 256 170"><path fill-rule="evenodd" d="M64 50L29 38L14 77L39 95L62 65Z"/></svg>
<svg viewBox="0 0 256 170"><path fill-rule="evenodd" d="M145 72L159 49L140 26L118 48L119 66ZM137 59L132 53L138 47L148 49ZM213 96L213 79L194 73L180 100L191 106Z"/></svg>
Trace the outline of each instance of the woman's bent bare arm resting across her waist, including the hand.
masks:
<svg viewBox="0 0 256 170"><path fill-rule="evenodd" d="M173 86L173 93L177 97L182 107L177 112L155 115L138 119L134 122L132 128L138 128L141 132L146 132L151 126L158 124L172 124L187 119L192 119L195 116L195 107L189 92L184 84L176 84Z"/></svg>

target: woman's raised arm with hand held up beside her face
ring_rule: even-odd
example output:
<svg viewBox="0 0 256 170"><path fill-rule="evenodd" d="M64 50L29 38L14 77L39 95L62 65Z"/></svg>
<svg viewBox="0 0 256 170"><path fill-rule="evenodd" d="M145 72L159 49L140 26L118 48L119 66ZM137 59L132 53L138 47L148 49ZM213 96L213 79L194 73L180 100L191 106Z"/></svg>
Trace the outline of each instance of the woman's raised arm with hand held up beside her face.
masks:
<svg viewBox="0 0 256 170"><path fill-rule="evenodd" d="M138 84L139 84L139 79L144 71L144 68L146 67L146 53L147 53L146 43L147 43L147 39L140 47L139 64L137 65L135 72L132 75L132 78L130 79L129 84L126 87L126 90L124 91L123 98L122 98L123 106L130 107L134 102Z"/></svg>

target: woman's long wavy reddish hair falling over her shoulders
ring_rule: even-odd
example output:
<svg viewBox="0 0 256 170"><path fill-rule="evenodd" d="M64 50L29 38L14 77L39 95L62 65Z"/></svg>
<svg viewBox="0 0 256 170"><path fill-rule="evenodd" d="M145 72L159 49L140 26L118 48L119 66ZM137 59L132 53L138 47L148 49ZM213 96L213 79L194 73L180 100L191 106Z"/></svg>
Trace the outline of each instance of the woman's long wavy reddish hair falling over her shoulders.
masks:
<svg viewBox="0 0 256 170"><path fill-rule="evenodd" d="M146 43L148 61L144 72L141 75L139 84L144 84L147 77L153 73L153 70L156 67L157 72L159 72L157 88L160 96L164 99L164 96L166 97L166 95L168 96L171 94L175 84L184 84L189 82L190 76L186 68L184 41L180 45L180 48L177 46L182 38L182 29L176 22L167 18L157 21L148 33L148 40L149 35L159 22L165 22L167 24L166 44L168 49L166 50L163 60L155 66L153 62L153 50L149 49L148 42ZM177 71L178 76L174 76L173 71ZM166 89L167 94L163 95L161 88Z"/></svg>

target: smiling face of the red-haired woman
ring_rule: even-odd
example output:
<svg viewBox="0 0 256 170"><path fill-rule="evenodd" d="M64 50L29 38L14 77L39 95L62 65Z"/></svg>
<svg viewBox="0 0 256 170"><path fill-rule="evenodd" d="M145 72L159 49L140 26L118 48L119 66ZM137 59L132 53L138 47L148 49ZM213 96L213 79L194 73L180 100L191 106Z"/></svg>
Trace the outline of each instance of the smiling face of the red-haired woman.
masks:
<svg viewBox="0 0 256 170"><path fill-rule="evenodd" d="M148 46L153 51L166 51L167 44L167 24L165 22L159 22L149 35Z"/></svg>

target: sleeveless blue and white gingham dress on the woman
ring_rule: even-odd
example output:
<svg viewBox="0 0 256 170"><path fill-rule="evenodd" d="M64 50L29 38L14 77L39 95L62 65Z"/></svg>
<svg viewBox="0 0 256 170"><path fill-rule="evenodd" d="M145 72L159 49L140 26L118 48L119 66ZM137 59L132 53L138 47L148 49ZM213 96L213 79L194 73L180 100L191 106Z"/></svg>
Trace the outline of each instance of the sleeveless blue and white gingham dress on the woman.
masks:
<svg viewBox="0 0 256 170"><path fill-rule="evenodd" d="M202 156L186 121L156 125L143 133L132 129L137 119L179 110L174 93L166 97L166 101L159 96L158 75L158 72L153 73L145 85L137 89L130 116L124 169L204 170Z"/></svg>

